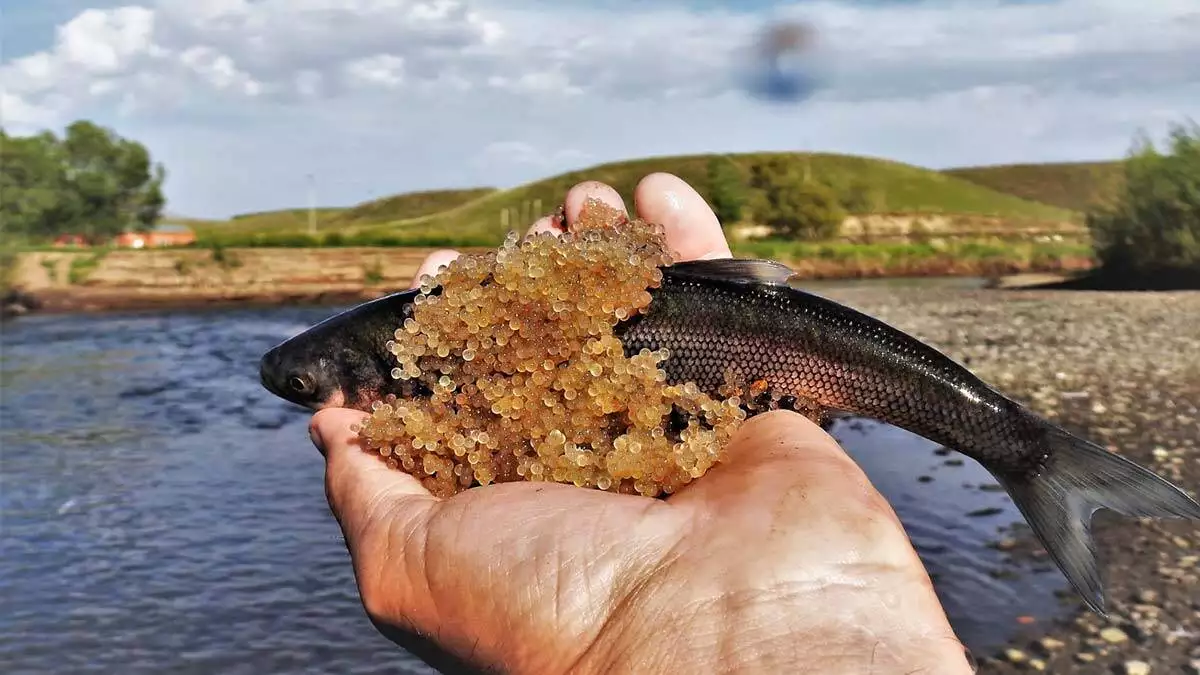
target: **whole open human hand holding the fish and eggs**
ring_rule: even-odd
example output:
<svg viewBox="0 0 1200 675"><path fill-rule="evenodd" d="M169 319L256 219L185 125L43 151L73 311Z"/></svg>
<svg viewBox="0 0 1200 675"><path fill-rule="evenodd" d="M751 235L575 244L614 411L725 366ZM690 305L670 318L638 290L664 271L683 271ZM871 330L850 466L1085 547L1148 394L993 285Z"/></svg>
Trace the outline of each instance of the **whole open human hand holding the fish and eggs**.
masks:
<svg viewBox="0 0 1200 675"><path fill-rule="evenodd" d="M588 197L625 210L584 183L566 195L569 221ZM678 178L644 178L635 202L680 258L731 255ZM323 410L311 434L385 633L506 673L971 671L887 501L799 414L749 419L725 462L666 500L523 482L437 498L358 447L364 417Z"/></svg>

